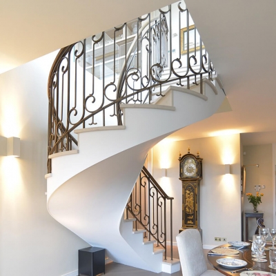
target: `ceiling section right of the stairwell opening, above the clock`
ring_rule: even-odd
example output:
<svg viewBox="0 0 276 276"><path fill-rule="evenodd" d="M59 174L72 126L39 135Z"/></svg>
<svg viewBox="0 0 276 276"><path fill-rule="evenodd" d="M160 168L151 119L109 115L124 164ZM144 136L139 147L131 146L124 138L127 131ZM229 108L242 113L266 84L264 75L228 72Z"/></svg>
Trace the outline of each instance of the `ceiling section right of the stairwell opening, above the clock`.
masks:
<svg viewBox="0 0 276 276"><path fill-rule="evenodd" d="M245 145L276 143L276 1L186 0L233 111L175 132L172 139L223 133Z"/></svg>

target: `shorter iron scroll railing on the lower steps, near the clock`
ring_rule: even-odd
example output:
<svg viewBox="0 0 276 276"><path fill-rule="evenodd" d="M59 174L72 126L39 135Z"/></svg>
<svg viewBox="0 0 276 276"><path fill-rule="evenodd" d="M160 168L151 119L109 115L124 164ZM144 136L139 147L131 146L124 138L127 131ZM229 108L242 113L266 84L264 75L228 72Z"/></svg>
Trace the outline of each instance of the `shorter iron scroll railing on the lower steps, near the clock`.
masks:
<svg viewBox="0 0 276 276"><path fill-rule="evenodd" d="M145 229L148 239L155 239L157 244L165 249L165 259L167 226L170 229L172 250L172 199L173 197L168 197L150 172L143 167L126 205L127 218L135 217L136 230Z"/></svg>

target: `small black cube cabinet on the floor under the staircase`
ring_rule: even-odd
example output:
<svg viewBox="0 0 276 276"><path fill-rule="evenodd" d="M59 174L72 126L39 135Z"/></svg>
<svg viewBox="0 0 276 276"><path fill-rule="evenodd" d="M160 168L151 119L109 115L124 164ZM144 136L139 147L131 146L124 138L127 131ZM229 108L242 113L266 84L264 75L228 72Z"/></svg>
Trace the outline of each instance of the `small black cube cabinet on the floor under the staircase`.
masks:
<svg viewBox="0 0 276 276"><path fill-rule="evenodd" d="M79 249L79 275L95 276L105 271L105 249L88 247Z"/></svg>

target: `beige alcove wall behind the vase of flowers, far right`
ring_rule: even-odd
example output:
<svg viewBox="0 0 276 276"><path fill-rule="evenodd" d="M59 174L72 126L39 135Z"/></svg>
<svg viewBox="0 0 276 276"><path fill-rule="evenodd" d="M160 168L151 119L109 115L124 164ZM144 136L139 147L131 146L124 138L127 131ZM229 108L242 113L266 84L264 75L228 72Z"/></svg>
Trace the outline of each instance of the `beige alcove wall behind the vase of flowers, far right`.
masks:
<svg viewBox="0 0 276 276"><path fill-rule="evenodd" d="M264 224L268 228L273 227L273 145L244 146L244 165L259 164L256 166L246 167L246 193L256 195L255 185L265 185L266 188L259 191L264 193L262 203L259 204L258 210L264 211ZM253 205L244 197L244 210L253 211ZM256 230L255 219L248 219L249 239L252 238ZM244 232L245 233L245 232Z"/></svg>

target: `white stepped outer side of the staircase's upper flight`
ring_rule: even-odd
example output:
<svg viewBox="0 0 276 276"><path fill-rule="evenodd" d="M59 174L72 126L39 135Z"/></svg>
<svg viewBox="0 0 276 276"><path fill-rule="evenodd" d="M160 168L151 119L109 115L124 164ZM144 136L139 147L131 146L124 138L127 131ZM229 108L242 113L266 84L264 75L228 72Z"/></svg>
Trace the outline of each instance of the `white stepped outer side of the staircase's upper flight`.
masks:
<svg viewBox="0 0 276 276"><path fill-rule="evenodd" d="M121 105L124 110L124 126L75 130L79 133L79 151L71 152L78 154L59 152L52 155L52 173L46 175L47 197L68 179L99 161L213 115L225 97L224 92L217 87L217 84L211 86L204 83L205 95L200 95L193 90L170 86L166 89L166 97L161 97L153 105ZM165 110L166 108L168 109Z"/></svg>

